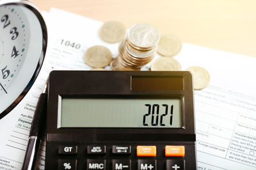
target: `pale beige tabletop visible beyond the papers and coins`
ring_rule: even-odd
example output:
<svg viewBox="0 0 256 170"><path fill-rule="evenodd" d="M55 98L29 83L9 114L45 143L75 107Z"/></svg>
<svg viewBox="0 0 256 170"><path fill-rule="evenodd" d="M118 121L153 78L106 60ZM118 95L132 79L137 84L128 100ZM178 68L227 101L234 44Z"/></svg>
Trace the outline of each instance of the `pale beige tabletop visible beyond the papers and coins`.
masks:
<svg viewBox="0 0 256 170"><path fill-rule="evenodd" d="M51 7L125 27L154 25L161 34L183 42L256 57L255 0L34 0L40 10Z"/></svg>

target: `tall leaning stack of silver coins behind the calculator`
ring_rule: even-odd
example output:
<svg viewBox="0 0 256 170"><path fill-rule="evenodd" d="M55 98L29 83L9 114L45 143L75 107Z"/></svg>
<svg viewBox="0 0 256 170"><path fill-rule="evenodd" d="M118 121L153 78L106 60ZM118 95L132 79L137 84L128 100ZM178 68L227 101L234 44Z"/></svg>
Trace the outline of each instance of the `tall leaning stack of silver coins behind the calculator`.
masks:
<svg viewBox="0 0 256 170"><path fill-rule="evenodd" d="M156 55L159 32L149 24L133 25L127 38L119 45L118 59L113 60L112 70L123 70L124 67L140 69Z"/></svg>

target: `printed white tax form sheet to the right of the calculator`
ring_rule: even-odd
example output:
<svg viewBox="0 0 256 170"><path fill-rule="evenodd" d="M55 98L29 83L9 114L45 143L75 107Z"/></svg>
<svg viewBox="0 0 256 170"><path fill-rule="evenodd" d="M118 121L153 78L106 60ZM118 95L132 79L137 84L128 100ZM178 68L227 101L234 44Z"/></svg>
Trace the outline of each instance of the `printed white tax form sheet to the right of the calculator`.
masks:
<svg viewBox="0 0 256 170"><path fill-rule="evenodd" d="M256 169L256 58L183 44L176 59L211 75L195 90L197 169Z"/></svg>

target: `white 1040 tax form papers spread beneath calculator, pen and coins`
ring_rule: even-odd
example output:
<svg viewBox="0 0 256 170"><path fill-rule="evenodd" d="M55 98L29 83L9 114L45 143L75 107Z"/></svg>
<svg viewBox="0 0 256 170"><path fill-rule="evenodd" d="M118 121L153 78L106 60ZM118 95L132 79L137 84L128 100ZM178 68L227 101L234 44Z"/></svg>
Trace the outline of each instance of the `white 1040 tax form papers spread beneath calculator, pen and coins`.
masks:
<svg viewBox="0 0 256 170"><path fill-rule="evenodd" d="M26 97L0 120L0 170L21 169L36 102L52 70L91 69L83 55L93 45L118 55L118 43L99 38L102 22L55 8L46 19L49 45L40 74ZM256 169L256 58L188 43L174 58L182 70L202 66L211 75L209 86L195 91L197 169ZM45 141L36 169L44 164Z"/></svg>

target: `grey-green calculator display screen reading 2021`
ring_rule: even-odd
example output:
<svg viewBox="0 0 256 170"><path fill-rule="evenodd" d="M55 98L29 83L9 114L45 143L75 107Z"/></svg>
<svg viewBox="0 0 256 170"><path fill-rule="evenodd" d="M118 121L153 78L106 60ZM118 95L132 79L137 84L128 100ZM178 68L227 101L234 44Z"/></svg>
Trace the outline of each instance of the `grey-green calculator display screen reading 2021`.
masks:
<svg viewBox="0 0 256 170"><path fill-rule="evenodd" d="M180 99L60 100L58 127L182 127Z"/></svg>

